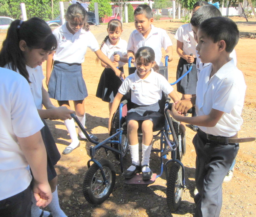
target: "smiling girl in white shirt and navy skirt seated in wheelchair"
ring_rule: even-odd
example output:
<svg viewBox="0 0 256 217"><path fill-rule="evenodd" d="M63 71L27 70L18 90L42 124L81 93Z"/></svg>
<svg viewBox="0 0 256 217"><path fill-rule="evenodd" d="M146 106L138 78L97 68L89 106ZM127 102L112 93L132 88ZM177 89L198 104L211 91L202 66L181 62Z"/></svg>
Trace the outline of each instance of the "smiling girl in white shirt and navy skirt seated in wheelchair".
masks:
<svg viewBox="0 0 256 217"><path fill-rule="evenodd" d="M157 64L154 61L155 54L151 47L141 47L135 54L137 70L129 75L122 83L114 98L108 130L111 128L113 114L126 93L131 90L132 108L126 116L127 135L131 152L131 166L122 174L127 179L142 172L143 180L151 179L153 173L149 167L149 158L153 140L153 126L163 124L164 115L160 113L159 101L162 91L169 95L173 101L180 98L163 75L158 74ZM163 108L162 108L163 109ZM141 126L142 137L142 161L139 159L138 128Z"/></svg>

